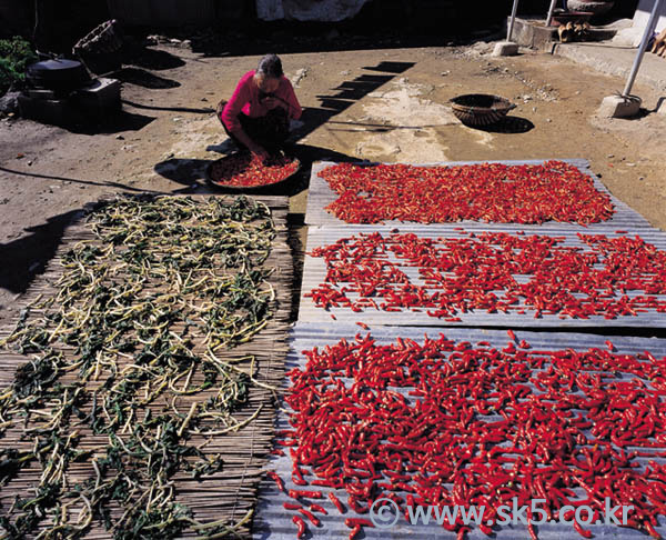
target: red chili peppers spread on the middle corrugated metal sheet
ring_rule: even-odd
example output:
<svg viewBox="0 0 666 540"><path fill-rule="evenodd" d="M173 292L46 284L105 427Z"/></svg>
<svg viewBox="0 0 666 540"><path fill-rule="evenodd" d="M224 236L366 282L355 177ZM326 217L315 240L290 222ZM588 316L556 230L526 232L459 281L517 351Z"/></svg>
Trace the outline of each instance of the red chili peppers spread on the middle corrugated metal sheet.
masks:
<svg viewBox="0 0 666 540"><path fill-rule="evenodd" d="M306 296L325 309L407 309L452 322L474 310L561 319L666 312L666 298L657 296L666 294L665 251L639 237L578 239L584 247L564 246L564 237L505 232L344 238L311 252L327 272ZM417 268L418 280L405 267Z"/></svg>

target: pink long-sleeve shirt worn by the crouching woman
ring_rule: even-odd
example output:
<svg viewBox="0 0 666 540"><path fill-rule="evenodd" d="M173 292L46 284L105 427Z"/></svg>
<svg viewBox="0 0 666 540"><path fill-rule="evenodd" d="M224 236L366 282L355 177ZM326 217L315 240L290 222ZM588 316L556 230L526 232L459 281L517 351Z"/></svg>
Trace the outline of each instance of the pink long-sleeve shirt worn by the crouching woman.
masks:
<svg viewBox="0 0 666 540"><path fill-rule="evenodd" d="M253 77L254 70L248 71L241 78L233 96L224 106L222 114L220 114L221 120L229 131L235 131L241 128L241 122L239 121L239 113L241 112L251 118L258 118L268 114L270 111L270 109L263 106L259 100L260 91L252 81ZM282 76L280 78L280 86L273 94L289 103L289 107L284 106L285 109L287 109L286 113L289 118L293 118L294 120L301 118L303 110L301 109L294 89L286 77ZM283 104L278 107L283 107Z"/></svg>

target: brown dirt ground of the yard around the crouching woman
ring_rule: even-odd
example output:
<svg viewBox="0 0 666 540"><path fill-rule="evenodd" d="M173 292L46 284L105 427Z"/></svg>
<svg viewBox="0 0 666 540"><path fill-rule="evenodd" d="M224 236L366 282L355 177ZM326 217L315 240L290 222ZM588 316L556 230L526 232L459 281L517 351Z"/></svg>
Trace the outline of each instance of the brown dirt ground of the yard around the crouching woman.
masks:
<svg viewBox="0 0 666 540"><path fill-rule="evenodd" d="M666 229L666 114L654 112L662 96L638 77L644 114L602 120L596 108L623 80L549 54L493 58L492 47L283 54L305 108L292 222L302 223L313 160L585 158L613 194ZM0 121L0 323L85 203L118 192L202 192L206 164L229 151L212 111L259 58L165 44L145 54L150 62L123 69L123 113L103 133ZM518 107L502 130L470 129L446 104L470 92Z"/></svg>

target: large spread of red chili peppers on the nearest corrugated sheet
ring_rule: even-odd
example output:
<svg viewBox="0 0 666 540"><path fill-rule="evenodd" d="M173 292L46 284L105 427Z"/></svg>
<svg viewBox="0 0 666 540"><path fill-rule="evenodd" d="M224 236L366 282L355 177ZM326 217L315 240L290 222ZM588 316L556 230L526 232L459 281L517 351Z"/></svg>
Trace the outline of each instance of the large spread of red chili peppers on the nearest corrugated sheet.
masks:
<svg viewBox="0 0 666 540"><path fill-rule="evenodd" d="M596 521L609 498L634 507L627 527L658 538L666 467L650 458L666 456L666 357L618 353L609 341L535 350L508 336L503 349L443 334L392 344L357 334L304 351L306 364L289 373L293 429L280 433L302 488L286 490L271 473L294 499L284 507L297 512L299 538L327 513L323 487L342 513L367 516L373 501L390 498L402 512L484 506L484 521L514 497L519 506L544 499L549 519L564 506L587 506ZM372 527L363 517L345 523L352 539ZM443 527L460 539L470 530L462 520ZM579 522L574 528L589 538ZM493 532L487 521L480 529ZM528 530L537 538L531 521Z"/></svg>

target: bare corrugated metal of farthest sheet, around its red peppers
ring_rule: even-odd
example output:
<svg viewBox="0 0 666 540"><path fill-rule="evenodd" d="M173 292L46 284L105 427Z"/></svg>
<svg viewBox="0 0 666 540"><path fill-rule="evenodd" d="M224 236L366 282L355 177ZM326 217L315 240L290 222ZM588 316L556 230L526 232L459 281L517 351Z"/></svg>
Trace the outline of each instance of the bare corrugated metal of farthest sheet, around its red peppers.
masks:
<svg viewBox="0 0 666 540"><path fill-rule="evenodd" d="M603 193L607 193L610 196L610 200L615 206L615 216L613 219L608 221L604 221L601 223L591 223L588 227L575 224L575 223L558 223L558 222L547 222L543 224L524 224L521 226L524 230L538 229L542 231L547 231L551 228L561 229L564 226L571 228L572 230L578 231L602 231L602 230L615 230L615 229L636 229L636 228L645 228L650 227L649 222L643 218L638 212L629 208L624 202L619 201L608 191L608 189L602 183L602 181L592 172L589 169L589 162L585 159L563 159L566 163L571 163L577 167L584 174L588 174L594 180L594 186ZM475 164L475 163L487 163L488 161L451 161L443 163L422 163L424 167L434 167L434 166L463 166L463 164ZM504 163L504 164L542 164L544 160L505 160L505 161L492 161L494 163ZM329 183L319 176L320 171L329 166L336 164L332 161L320 161L312 166L312 176L310 178L310 188L307 192L307 211L305 213L305 223L313 226L343 226L346 224L344 221L337 219L332 213L329 213L325 208L331 204L335 199L337 199L337 194L331 190ZM476 221L460 221L457 224L472 226L476 224ZM385 221L383 224L407 224L401 223L400 221ZM418 223L414 223L418 226ZM481 223L485 226L486 223ZM433 223L430 226L431 228L441 227L441 223Z"/></svg>

